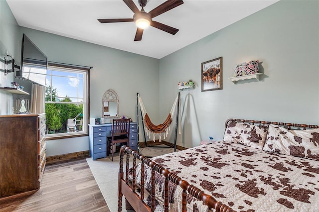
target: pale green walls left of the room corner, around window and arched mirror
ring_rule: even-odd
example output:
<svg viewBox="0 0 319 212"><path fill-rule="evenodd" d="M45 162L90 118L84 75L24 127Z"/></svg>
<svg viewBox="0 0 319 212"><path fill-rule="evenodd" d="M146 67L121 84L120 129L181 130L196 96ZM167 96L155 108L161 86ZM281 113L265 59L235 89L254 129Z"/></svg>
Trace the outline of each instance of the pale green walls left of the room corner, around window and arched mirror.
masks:
<svg viewBox="0 0 319 212"><path fill-rule="evenodd" d="M145 97L148 112L157 121L158 59L19 27L6 1L0 0L0 9L2 58L5 49L8 49L19 63L22 34L25 33L48 57L48 61L93 67L90 71L90 117L101 117L103 94L108 89L113 89L120 99L119 115L128 115L136 121L136 95L139 92ZM10 73L4 77L3 72L0 72L0 86L9 86L14 80L23 85L26 88L24 90L30 90L31 83L15 79L13 76L14 74ZM0 91L0 115L11 114L13 99L11 94ZM47 141L47 156L88 149L88 136Z"/></svg>

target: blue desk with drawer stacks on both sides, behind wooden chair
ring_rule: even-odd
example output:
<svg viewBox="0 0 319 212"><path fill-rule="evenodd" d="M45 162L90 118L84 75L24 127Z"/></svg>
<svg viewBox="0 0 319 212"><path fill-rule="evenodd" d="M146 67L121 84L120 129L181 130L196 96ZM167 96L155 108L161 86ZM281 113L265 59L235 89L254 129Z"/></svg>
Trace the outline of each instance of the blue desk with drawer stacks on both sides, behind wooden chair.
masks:
<svg viewBox="0 0 319 212"><path fill-rule="evenodd" d="M112 123L106 124L89 124L90 138L90 156L93 160L97 158L106 158L107 137L112 136ZM130 123L130 143L129 146L138 151L138 132L137 123Z"/></svg>

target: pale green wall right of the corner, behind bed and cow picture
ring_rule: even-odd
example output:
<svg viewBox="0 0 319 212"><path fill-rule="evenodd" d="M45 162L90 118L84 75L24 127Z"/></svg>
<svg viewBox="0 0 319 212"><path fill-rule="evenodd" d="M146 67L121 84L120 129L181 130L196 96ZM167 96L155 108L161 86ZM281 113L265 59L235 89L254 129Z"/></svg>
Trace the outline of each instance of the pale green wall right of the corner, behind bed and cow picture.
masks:
<svg viewBox="0 0 319 212"><path fill-rule="evenodd" d="M319 124L319 1L279 1L160 60L160 117L181 91L177 144L223 138L228 118ZM223 89L201 92L201 63L223 57ZM236 64L261 61L261 80L232 83ZM174 94L171 94L174 91ZM174 132L174 130L171 130ZM169 141L173 142L174 136Z"/></svg>

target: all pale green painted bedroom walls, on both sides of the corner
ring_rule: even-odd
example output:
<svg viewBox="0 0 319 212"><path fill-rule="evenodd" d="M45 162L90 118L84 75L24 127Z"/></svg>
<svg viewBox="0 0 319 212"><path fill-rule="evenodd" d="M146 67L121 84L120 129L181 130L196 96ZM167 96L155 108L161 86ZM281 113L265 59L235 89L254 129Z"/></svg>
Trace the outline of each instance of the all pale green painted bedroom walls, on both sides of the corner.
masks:
<svg viewBox="0 0 319 212"><path fill-rule="evenodd" d="M177 136L179 145L192 147L208 136L222 139L227 118L319 124L318 11L319 1L279 1L158 60L19 27L0 0L0 54L8 49L19 61L25 33L49 61L92 66L91 117L100 116L104 92L114 89L121 115L136 120L139 92L152 121L160 123L178 93L177 82L192 79L195 89L181 91ZM223 90L201 92L201 63L221 56ZM234 66L249 60L262 62L261 80L230 82ZM0 72L0 86L12 80ZM0 114L10 113L12 105L12 95L0 91ZM174 125L171 132L173 142ZM88 137L50 140L47 156L88 150L88 143Z"/></svg>

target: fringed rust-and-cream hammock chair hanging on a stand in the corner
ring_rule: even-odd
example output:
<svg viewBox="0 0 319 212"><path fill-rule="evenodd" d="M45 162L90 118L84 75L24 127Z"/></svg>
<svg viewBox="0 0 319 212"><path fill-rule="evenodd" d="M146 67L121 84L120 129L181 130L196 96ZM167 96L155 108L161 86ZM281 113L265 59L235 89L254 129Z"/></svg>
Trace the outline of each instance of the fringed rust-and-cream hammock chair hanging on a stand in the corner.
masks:
<svg viewBox="0 0 319 212"><path fill-rule="evenodd" d="M178 102L178 96L176 97L174 104L171 107L169 114L167 115L167 118L162 124L159 124L159 125L155 125L154 123L152 123L151 118L146 112L145 106L142 102L142 98L140 97L139 94L138 94L138 100L139 100L139 105L141 107L142 116L144 119L145 132L147 133L150 139L151 139L151 134L153 134L153 137L152 137L153 141L155 141L156 137L159 136L159 141L161 142L162 137L163 139L165 139L165 137L168 135L168 131L170 130L169 126L172 122L172 118L174 117L175 107Z"/></svg>

